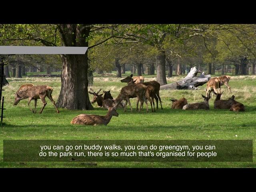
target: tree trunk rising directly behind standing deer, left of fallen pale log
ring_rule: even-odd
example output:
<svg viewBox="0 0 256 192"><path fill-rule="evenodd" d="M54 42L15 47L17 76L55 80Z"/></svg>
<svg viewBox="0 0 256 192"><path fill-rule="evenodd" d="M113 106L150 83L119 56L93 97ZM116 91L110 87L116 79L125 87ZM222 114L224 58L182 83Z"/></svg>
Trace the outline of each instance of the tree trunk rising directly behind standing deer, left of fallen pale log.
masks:
<svg viewBox="0 0 256 192"><path fill-rule="evenodd" d="M161 51L159 55L156 56L156 81L160 83L160 85L166 85L166 75L165 75L165 52Z"/></svg>

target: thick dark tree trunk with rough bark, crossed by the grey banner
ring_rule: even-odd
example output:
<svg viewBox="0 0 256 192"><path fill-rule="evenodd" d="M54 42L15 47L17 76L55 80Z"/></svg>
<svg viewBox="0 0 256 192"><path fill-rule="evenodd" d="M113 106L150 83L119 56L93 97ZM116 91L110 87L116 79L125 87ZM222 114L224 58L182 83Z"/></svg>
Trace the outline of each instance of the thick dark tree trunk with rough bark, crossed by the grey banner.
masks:
<svg viewBox="0 0 256 192"><path fill-rule="evenodd" d="M88 47L85 38L90 28L84 25L61 24L58 26L64 46ZM61 90L57 106L71 110L93 109L88 95L88 52L62 55Z"/></svg>

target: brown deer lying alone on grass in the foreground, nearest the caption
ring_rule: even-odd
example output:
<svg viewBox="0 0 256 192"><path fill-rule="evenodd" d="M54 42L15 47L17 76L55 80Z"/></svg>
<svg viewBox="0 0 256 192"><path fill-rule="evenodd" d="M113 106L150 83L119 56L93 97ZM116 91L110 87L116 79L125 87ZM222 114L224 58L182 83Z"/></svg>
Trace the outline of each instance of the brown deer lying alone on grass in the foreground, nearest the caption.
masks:
<svg viewBox="0 0 256 192"><path fill-rule="evenodd" d="M113 107L108 108L108 113L105 116L102 115L88 115L88 114L80 114L72 119L71 124L80 124L80 125L107 125L112 116L118 117L118 113L116 112L116 108L119 105L117 103Z"/></svg>

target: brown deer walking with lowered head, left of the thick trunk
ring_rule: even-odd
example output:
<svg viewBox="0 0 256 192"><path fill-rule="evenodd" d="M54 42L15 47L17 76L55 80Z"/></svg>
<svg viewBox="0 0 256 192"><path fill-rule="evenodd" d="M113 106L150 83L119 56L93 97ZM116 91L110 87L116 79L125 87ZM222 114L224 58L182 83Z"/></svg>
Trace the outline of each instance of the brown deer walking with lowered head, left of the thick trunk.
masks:
<svg viewBox="0 0 256 192"><path fill-rule="evenodd" d="M46 86L46 85L38 85L38 86L35 86L34 84L22 85L22 86L20 86L20 88L18 89L18 91L15 94L14 105L17 105L20 102L20 100L28 98L28 107L30 108L30 110L33 113L36 113L37 100L41 99L42 102L44 103L44 106L40 110L40 113L42 113L42 111L44 110L44 107L47 104L45 101L45 98L47 96L50 99L50 101L52 102L52 104L54 105L54 107L56 108L57 113L60 113L60 111L56 107L54 100L52 99L52 91L53 91L53 89L50 86ZM33 99L35 100L35 109L34 110L30 107L30 102Z"/></svg>

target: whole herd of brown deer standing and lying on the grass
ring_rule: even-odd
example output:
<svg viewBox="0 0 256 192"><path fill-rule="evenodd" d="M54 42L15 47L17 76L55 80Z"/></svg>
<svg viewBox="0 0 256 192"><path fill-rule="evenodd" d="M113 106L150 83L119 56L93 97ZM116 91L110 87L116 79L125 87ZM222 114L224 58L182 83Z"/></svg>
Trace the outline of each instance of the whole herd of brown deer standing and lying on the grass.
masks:
<svg viewBox="0 0 256 192"><path fill-rule="evenodd" d="M186 98L181 98L180 100L172 100L172 108L173 109L183 109L183 110L198 110L198 109L205 109L209 110L209 99L210 93L213 92L216 94L216 99L214 101L214 108L215 109L230 109L230 111L244 111L244 105L240 102L234 100L235 96L233 95L228 100L220 100L222 93L220 92L220 86L226 85L227 92L230 91L230 86L228 82L230 80L230 76L221 76L216 78L211 78L207 82L206 86L206 96L202 95L204 98L204 102L194 102L189 103L187 102ZM132 106L130 103L130 98L137 98L136 110L140 112L141 108L143 107L144 102L146 103L146 110L148 112L148 102L150 102L152 112L156 112L155 110L155 103L154 99L156 99L156 108L158 109L158 100L160 101L161 109L162 108L162 101L159 95L160 84L156 81L144 82L144 78L142 76L133 77L132 74L127 76L126 78L122 79L121 82L126 82L127 86L124 86L120 94L116 99L112 97L110 91L103 91L103 94L99 94L101 89L97 92L94 92L92 88L90 88L89 93L93 94L93 99L91 103L97 102L99 107L107 108L108 112L106 116L100 115L88 115L88 114L80 114L72 119L70 122L71 124L82 124L82 125L100 125L104 124L107 125L112 116L118 116L116 109L118 106L120 108L124 108L126 111L126 106L129 104L130 109L132 111ZM52 99L52 91L53 89L50 86L35 86L34 84L25 84L22 85L19 90L15 94L15 101L14 105L17 105L20 100L28 98L28 106L33 113L36 113L36 103L38 99L41 99L44 106L40 110L42 113L44 107L46 106L45 98L46 96L50 99L54 107L56 108L57 113L59 113L58 108L54 100ZM230 91L231 93L231 91ZM35 108L34 110L30 107L31 100L35 101ZM125 104L122 101L125 100ZM140 108L138 109L138 104L140 102ZM152 105L153 104L153 105ZM154 108L154 109L153 109Z"/></svg>

